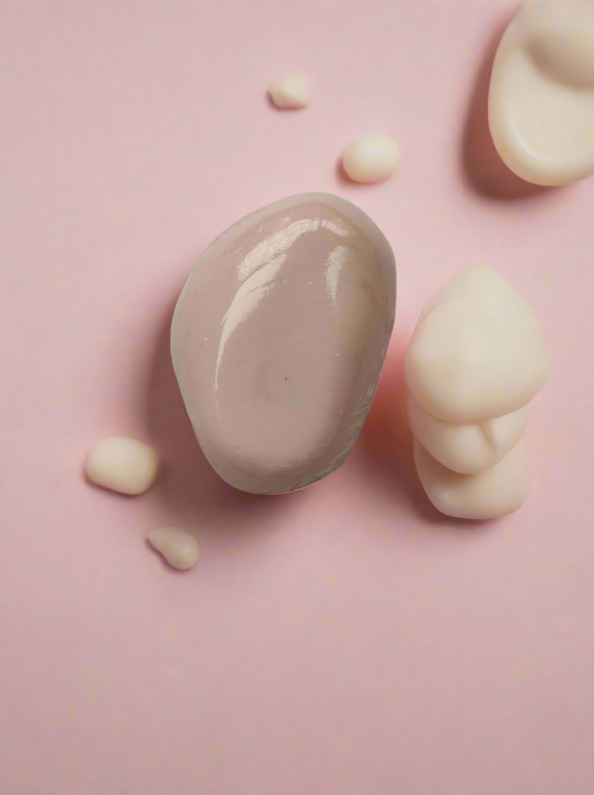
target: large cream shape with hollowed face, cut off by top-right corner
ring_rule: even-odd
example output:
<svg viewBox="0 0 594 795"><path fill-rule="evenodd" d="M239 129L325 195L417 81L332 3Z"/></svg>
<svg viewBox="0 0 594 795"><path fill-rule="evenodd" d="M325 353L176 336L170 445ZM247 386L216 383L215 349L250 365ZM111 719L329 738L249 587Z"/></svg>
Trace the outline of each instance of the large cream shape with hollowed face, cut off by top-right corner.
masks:
<svg viewBox="0 0 594 795"><path fill-rule="evenodd" d="M488 98L493 142L539 185L594 173L594 0L526 0L500 41Z"/></svg>

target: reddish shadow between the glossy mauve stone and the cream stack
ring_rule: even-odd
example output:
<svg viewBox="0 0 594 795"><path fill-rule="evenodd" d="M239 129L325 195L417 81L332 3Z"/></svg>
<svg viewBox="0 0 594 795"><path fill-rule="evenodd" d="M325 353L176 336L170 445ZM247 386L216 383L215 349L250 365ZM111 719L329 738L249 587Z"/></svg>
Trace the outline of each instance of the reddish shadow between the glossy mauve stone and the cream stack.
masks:
<svg viewBox="0 0 594 795"><path fill-rule="evenodd" d="M361 456L361 465L373 471L374 483L395 502L409 504L428 522L451 523L453 520L431 505L415 471L404 381L407 344L405 336L395 332L395 343L388 351L376 397L353 455Z"/></svg>

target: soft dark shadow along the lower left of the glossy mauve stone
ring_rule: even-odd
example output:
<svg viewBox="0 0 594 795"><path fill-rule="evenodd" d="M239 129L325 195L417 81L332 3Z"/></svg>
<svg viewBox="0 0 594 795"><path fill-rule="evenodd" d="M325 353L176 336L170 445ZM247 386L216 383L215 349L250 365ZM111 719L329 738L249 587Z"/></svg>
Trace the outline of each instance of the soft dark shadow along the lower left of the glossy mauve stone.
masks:
<svg viewBox="0 0 594 795"><path fill-rule="evenodd" d="M230 487L210 467L196 440L173 371L170 332L176 297L164 311L148 374L148 435L164 461L164 472L153 490L172 513L172 520L185 518L197 529L230 530L235 534L264 529L271 526L272 514L280 510L286 514L307 498L306 492L247 494Z"/></svg>

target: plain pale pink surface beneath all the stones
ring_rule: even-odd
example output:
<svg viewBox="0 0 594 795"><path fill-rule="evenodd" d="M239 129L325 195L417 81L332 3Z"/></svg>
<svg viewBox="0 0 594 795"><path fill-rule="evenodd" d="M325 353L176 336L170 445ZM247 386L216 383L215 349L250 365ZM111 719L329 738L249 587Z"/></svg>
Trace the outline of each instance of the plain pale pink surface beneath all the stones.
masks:
<svg viewBox="0 0 594 795"><path fill-rule="evenodd" d="M527 192L484 130L487 0L2 3L2 795L589 795L594 781L594 180ZM303 68L306 111L268 106ZM387 183L337 159L393 134ZM168 357L212 238L336 192L399 269L395 335L341 470L257 498L202 459ZM530 195L527 195L530 193ZM475 263L542 320L533 491L440 517L402 418L419 310ZM152 441L141 498L89 445ZM179 575L143 541L195 529Z"/></svg>

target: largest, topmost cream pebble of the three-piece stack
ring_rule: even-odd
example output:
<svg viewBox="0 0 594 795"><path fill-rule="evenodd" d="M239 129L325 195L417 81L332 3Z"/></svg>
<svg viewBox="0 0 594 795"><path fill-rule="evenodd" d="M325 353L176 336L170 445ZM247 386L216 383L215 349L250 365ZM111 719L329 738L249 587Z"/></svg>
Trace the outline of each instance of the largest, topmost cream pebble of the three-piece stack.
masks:
<svg viewBox="0 0 594 795"><path fill-rule="evenodd" d="M413 332L404 366L422 409L457 424L522 409L548 372L528 304L484 266L465 270L438 293Z"/></svg>

